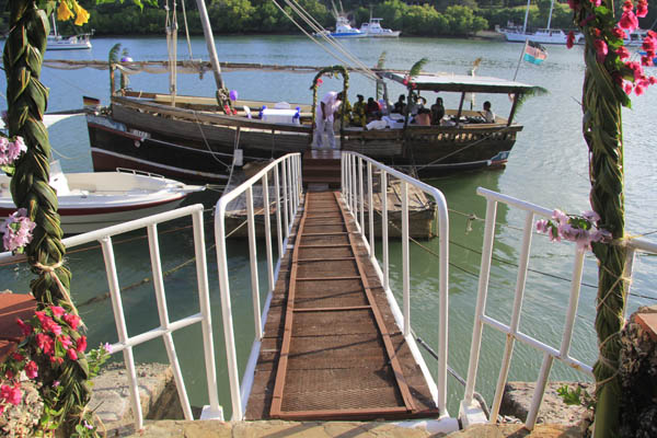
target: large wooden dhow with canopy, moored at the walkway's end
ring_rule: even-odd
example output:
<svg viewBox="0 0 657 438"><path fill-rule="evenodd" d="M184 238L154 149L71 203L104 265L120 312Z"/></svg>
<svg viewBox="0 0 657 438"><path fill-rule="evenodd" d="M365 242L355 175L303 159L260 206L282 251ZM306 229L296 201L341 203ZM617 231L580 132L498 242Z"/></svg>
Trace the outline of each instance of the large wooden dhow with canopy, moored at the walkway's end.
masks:
<svg viewBox="0 0 657 438"><path fill-rule="evenodd" d="M262 68L257 66L254 68ZM381 78L404 83L405 74L380 71ZM384 129L345 127L342 150L368 154L422 177L502 166L522 126L512 123L516 102L531 85L497 78L426 73L414 80L416 92L511 93L508 118L484 123L482 114L461 107L446 111L440 125L423 126L410 117L390 115ZM408 85L410 87L410 85ZM408 88L411 91L412 89ZM235 101L235 115L221 112L211 97L122 91L108 108L88 114L95 171L117 166L140 169L184 181L222 182L234 164L269 160L311 148L312 107L272 102ZM266 107L261 115L251 108ZM270 108L270 110L269 110Z"/></svg>

